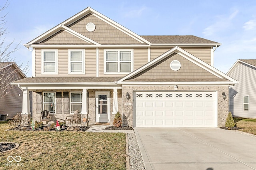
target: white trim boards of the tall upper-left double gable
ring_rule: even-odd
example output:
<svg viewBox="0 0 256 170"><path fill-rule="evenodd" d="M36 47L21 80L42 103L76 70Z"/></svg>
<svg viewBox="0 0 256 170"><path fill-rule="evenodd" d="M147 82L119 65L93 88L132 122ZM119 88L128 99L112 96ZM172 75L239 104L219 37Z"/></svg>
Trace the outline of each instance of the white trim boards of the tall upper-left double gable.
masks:
<svg viewBox="0 0 256 170"><path fill-rule="evenodd" d="M128 30L127 28L125 28L124 26L121 26L120 24L118 24L117 22L114 22L113 20L111 20L110 18L100 14L99 12L97 12L96 10L88 7L84 10L82 10L81 12L79 12L78 14L72 16L71 18L69 18L68 20L62 22L61 24L55 26L54 28L52 28L51 30L48 30L47 32L45 32L44 34L42 34L41 36L38 36L37 38L35 38L34 40L28 42L27 44L24 44L24 46L26 47L32 47L32 46L36 46L39 45L38 43L43 42L44 40L50 38L51 36L54 36L55 34L58 34L58 32L64 30L65 32L68 32L70 34L72 34L73 36L76 36L77 38L80 38L81 40L87 42L87 43L93 43L93 45L100 45L99 43L95 42L94 40L72 30L69 28L69 26L71 26L74 22L77 22L78 20L80 20L81 18L84 18L85 16L88 15L92 15L95 16L96 18L102 20L103 22L106 22L107 24L109 24L110 26L113 26L114 28L116 28L117 30L119 30L120 32L123 32L124 34L130 36L131 38L133 38L134 40L138 41L139 43L142 44L150 44L150 42L148 42L147 40L145 40L144 38L138 36L137 34L135 34L134 32ZM42 44L40 44L42 45ZM63 46L63 45L62 45Z"/></svg>

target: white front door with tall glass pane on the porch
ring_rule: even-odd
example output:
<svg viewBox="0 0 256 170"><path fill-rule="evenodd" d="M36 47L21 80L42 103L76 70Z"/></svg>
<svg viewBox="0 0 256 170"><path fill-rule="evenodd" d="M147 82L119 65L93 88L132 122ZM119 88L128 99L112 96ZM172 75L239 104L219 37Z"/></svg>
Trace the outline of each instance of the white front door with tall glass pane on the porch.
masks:
<svg viewBox="0 0 256 170"><path fill-rule="evenodd" d="M96 122L110 122L109 91L96 91Z"/></svg>

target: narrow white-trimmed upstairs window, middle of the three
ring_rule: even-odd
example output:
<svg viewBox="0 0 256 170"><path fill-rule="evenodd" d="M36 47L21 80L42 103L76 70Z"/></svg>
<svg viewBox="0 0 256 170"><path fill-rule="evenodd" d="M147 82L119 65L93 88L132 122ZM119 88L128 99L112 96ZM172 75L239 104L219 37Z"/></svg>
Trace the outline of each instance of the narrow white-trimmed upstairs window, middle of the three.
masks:
<svg viewBox="0 0 256 170"><path fill-rule="evenodd" d="M84 74L84 49L68 50L68 73Z"/></svg>

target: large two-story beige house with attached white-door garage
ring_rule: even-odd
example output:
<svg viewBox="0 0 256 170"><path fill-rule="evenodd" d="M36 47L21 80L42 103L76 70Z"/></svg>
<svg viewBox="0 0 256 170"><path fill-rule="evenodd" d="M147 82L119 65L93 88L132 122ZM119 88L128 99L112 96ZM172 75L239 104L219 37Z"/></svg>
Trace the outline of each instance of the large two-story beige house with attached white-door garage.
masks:
<svg viewBox="0 0 256 170"><path fill-rule="evenodd" d="M146 28L145 28L146 29ZM213 67L220 43L196 36L138 36L88 7L34 40L33 119L81 111L90 124L122 114L130 127L218 127L228 114L236 80ZM223 93L227 99L223 99ZM23 100L23 114L29 108ZM84 118L84 119L83 119Z"/></svg>

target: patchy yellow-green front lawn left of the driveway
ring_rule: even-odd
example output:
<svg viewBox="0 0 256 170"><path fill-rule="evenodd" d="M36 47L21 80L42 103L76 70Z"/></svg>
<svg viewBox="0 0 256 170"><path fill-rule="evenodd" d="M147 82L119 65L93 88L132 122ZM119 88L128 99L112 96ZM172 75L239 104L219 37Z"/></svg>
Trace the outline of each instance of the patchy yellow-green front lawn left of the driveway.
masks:
<svg viewBox="0 0 256 170"><path fill-rule="evenodd" d="M5 131L8 128L7 123L0 123L0 142L20 146L0 154L0 170L126 169L124 133ZM8 162L8 156L20 156L22 160Z"/></svg>

